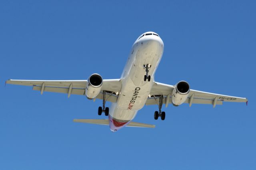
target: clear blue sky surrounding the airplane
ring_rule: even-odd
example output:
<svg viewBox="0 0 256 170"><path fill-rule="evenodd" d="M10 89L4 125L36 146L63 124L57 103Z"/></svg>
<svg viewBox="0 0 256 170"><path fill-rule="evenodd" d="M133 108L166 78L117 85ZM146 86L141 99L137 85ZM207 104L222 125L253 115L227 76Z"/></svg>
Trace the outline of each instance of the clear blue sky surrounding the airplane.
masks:
<svg viewBox="0 0 256 170"><path fill-rule="evenodd" d="M255 1L1 1L0 169L255 170ZM165 49L156 81L247 97L222 106L144 107L156 128L104 119L84 96L32 91L7 79L119 78L130 48L154 31ZM110 103L107 104L110 106Z"/></svg>

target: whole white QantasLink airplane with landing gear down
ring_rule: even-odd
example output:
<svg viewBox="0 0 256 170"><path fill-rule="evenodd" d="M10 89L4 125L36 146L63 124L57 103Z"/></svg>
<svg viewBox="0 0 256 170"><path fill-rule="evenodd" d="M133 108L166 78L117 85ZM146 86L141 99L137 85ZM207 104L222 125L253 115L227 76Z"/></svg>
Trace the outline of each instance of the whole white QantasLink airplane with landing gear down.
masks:
<svg viewBox="0 0 256 170"><path fill-rule="evenodd" d="M140 35L130 51L128 61L120 79L102 79L99 74L92 74L88 80L13 80L7 84L32 86L33 90L67 93L70 95L84 95L88 99L102 100L102 107L98 107L98 115L105 113L108 119L74 119L74 122L109 125L115 132L123 127L148 127L155 125L132 122L136 114L144 105L157 105L154 119L165 119L165 107L171 103L179 106L182 103L210 104L215 107L223 102L247 102L246 98L233 97L197 91L190 89L186 81L179 81L176 85L158 83L154 75L164 52L164 43L155 32L145 32ZM106 101L111 107L105 107Z"/></svg>

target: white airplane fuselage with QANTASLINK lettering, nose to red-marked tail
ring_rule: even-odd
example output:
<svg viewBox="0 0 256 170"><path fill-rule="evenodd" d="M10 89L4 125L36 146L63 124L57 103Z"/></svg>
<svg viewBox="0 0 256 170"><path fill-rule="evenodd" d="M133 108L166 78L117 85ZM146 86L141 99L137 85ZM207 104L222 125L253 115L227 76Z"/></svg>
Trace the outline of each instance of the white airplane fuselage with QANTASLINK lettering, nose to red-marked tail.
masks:
<svg viewBox="0 0 256 170"><path fill-rule="evenodd" d="M147 35L152 34L152 35ZM121 75L122 89L116 103L109 111L111 131L125 127L134 119L138 110L144 107L154 84L154 74L164 52L162 39L154 32L146 32L132 45L130 56ZM150 65L150 81L144 81L146 68Z"/></svg>

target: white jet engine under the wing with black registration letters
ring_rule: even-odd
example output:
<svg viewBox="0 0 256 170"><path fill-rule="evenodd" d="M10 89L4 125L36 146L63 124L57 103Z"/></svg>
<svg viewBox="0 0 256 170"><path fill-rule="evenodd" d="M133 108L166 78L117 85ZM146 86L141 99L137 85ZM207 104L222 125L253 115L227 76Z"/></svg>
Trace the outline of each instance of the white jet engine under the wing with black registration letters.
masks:
<svg viewBox="0 0 256 170"><path fill-rule="evenodd" d="M186 81L178 82L172 91L172 104L178 106L184 103L188 98L189 91L190 87Z"/></svg>

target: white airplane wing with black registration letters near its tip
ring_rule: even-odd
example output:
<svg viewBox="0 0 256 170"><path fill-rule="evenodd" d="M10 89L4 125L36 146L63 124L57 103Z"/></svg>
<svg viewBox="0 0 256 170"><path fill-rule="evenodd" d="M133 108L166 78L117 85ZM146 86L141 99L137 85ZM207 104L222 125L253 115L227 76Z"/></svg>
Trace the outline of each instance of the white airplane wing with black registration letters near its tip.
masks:
<svg viewBox="0 0 256 170"><path fill-rule="evenodd" d="M163 95L163 103L165 103L167 107L169 103L172 103L171 98L173 89L173 85L155 82L150 92L151 97L148 97L146 105L158 105L157 99L160 98L161 95ZM213 107L215 107L216 105L222 105L223 102L246 102L247 104L248 100L242 97L220 95L190 89L188 98L184 103L189 103L190 107L192 104L211 104L213 105Z"/></svg>

